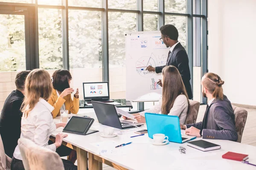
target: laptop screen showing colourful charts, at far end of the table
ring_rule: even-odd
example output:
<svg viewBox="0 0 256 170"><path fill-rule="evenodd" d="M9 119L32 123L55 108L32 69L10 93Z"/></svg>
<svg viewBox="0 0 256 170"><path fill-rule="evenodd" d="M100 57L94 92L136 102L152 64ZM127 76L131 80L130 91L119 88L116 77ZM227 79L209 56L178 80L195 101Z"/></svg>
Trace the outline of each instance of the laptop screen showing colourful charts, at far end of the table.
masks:
<svg viewBox="0 0 256 170"><path fill-rule="evenodd" d="M84 82L84 99L109 99L109 84L108 82Z"/></svg>

